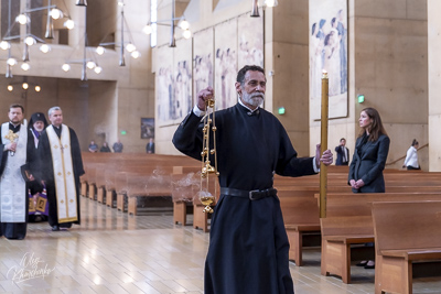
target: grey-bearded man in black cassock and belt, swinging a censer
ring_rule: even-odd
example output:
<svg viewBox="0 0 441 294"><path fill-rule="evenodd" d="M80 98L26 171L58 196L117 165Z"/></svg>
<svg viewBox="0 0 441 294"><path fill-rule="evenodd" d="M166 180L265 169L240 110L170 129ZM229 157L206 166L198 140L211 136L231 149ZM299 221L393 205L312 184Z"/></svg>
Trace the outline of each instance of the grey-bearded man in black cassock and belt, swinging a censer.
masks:
<svg viewBox="0 0 441 294"><path fill-rule="evenodd" d="M206 294L290 294L289 241L273 173L302 176L332 163L332 152L297 157L279 120L259 106L266 90L265 72L245 66L237 75L239 102L216 111L216 152L220 198L211 224L205 262ZM211 87L197 95L197 105L173 137L178 150L201 160L205 100ZM213 146L212 146L213 148ZM211 162L214 162L213 160Z"/></svg>

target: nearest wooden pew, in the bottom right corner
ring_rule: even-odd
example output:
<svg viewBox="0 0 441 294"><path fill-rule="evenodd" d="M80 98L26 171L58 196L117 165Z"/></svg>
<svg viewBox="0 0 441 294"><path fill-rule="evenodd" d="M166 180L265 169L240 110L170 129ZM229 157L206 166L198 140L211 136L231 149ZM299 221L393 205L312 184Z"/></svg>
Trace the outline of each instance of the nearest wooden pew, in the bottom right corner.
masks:
<svg viewBox="0 0 441 294"><path fill-rule="evenodd" d="M441 261L441 202L374 203L372 214L375 293L411 294L412 262Z"/></svg>

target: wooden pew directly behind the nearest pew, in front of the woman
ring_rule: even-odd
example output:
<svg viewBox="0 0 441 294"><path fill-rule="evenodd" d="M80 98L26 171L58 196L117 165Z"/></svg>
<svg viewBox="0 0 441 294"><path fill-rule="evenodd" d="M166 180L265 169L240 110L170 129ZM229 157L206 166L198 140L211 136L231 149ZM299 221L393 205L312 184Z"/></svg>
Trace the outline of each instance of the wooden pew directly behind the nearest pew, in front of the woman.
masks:
<svg viewBox="0 0 441 294"><path fill-rule="evenodd" d="M321 273L340 275L344 283L351 283L351 246L374 242L372 203L409 202L417 198L441 200L441 194L437 192L329 194L326 218L321 219Z"/></svg>

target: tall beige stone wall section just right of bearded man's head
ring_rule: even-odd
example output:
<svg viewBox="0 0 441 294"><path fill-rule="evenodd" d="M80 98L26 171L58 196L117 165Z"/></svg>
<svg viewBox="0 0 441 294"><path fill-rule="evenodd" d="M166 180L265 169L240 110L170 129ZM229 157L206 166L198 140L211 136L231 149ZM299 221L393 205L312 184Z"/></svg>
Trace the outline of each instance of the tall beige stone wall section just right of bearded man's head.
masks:
<svg viewBox="0 0 441 294"><path fill-rule="evenodd" d="M266 108L282 122L299 156L309 156L309 6L305 0L279 1L266 11ZM284 107L286 113L278 115Z"/></svg>

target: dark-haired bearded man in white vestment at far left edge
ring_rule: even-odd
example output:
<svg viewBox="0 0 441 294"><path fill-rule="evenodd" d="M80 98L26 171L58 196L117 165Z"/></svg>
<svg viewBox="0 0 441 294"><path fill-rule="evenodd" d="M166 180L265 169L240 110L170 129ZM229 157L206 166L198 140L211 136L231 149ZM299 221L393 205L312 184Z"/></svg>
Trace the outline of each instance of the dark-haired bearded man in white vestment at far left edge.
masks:
<svg viewBox="0 0 441 294"><path fill-rule="evenodd" d="M8 239L24 239L29 211L29 195L40 190L41 186L32 174L36 168L36 159L32 133L23 123L24 109L21 105L11 105L9 122L0 128L0 236ZM24 178L25 171L29 177Z"/></svg>

